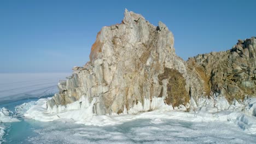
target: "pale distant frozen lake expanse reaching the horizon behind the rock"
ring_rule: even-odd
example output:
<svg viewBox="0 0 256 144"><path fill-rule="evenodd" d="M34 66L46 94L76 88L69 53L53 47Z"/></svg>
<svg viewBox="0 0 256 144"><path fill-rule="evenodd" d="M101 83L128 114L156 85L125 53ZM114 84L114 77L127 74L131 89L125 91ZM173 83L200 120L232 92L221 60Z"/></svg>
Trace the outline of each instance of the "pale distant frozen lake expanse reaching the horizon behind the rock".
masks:
<svg viewBox="0 0 256 144"><path fill-rule="evenodd" d="M57 92L57 82L67 73L0 74L0 104L24 98L40 98Z"/></svg>

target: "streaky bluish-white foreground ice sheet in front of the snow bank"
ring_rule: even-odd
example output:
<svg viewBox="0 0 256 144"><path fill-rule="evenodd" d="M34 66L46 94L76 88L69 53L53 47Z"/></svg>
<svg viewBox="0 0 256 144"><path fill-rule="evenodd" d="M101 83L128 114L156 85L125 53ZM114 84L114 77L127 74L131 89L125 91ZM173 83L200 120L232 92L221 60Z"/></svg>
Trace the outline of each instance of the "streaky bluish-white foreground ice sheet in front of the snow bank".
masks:
<svg viewBox="0 0 256 144"><path fill-rule="evenodd" d="M53 122L35 129L27 143L254 143L256 137L229 123L135 119L109 127Z"/></svg>

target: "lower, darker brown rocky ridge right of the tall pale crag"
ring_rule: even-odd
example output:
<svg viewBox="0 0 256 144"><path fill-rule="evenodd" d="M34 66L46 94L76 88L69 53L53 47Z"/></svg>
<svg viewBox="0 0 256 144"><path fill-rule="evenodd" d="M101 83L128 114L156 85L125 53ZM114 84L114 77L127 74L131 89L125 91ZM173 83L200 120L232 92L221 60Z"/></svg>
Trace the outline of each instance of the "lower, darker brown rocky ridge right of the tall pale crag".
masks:
<svg viewBox="0 0 256 144"><path fill-rule="evenodd" d="M238 40L231 50L211 52L187 61L190 93L219 93L231 102L256 94L256 38Z"/></svg>

